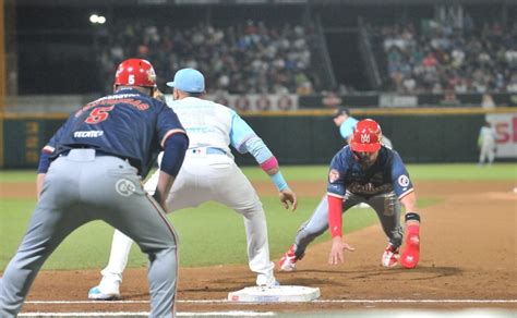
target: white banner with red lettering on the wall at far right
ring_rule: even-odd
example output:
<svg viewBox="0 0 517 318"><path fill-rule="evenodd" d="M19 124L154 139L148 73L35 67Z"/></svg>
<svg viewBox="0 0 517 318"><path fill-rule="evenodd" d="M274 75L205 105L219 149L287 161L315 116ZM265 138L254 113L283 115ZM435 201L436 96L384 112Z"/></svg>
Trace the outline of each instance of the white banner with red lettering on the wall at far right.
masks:
<svg viewBox="0 0 517 318"><path fill-rule="evenodd" d="M497 133L495 158L517 158L517 112L491 113L486 121Z"/></svg>

